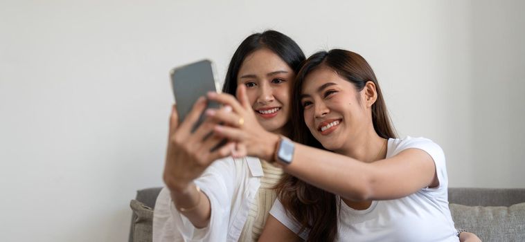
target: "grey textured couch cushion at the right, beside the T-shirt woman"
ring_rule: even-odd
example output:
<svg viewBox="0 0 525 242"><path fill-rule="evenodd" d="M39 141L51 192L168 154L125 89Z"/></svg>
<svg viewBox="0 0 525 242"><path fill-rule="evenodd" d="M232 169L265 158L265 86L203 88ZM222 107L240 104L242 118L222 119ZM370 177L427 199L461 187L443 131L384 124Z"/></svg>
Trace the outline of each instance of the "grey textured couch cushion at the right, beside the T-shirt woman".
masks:
<svg viewBox="0 0 525 242"><path fill-rule="evenodd" d="M456 228L473 232L481 241L525 241L525 203L510 207L450 204Z"/></svg>

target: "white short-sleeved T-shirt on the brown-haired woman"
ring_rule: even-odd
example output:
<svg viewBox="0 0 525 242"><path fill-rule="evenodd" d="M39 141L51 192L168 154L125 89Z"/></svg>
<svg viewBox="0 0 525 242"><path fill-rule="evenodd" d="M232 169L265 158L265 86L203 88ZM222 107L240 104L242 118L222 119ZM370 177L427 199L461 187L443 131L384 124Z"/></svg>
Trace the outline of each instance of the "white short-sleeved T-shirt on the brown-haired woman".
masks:
<svg viewBox="0 0 525 242"><path fill-rule="evenodd" d="M434 159L438 187L395 200L373 201L366 210L354 210L337 199L337 241L459 241L448 207L447 169L441 147L426 138L389 139L386 158L404 149L422 149ZM278 199L270 214L290 230L298 233L300 226L288 217ZM306 239L308 232L299 234Z"/></svg>

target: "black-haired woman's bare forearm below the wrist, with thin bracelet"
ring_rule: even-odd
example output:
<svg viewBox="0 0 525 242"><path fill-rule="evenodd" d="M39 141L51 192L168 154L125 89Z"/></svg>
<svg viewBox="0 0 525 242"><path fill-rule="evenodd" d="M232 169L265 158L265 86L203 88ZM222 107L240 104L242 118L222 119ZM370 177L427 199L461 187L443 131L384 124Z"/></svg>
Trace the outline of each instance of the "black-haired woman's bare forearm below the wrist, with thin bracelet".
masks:
<svg viewBox="0 0 525 242"><path fill-rule="evenodd" d="M202 191L197 191L193 184L182 191L170 191L170 196L175 208L186 216L197 228L206 227L210 221L211 203Z"/></svg>

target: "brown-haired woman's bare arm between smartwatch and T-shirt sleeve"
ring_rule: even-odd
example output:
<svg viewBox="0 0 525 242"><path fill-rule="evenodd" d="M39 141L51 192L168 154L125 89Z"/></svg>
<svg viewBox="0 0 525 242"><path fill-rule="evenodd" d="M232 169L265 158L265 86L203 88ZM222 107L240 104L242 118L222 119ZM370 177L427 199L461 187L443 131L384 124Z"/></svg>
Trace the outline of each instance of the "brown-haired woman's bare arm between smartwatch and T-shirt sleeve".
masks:
<svg viewBox="0 0 525 242"><path fill-rule="evenodd" d="M350 201L402 198L437 181L434 161L421 149L367 163L295 143L292 163L284 169Z"/></svg>

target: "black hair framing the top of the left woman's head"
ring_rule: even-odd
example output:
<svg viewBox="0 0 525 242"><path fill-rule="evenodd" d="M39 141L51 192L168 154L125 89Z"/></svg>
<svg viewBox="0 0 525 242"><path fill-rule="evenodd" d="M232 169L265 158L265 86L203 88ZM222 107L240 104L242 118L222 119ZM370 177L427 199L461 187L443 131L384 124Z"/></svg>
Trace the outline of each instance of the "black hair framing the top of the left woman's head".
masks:
<svg viewBox="0 0 525 242"><path fill-rule="evenodd" d="M250 35L242 41L237 50L235 50L235 53L233 53L233 57L231 57L226 78L224 79L224 85L222 86L223 93L235 95L235 91L237 90L237 76L242 62L244 62L244 59L248 55L262 48L267 48L276 53L276 55L281 57L281 59L294 70L294 73L299 73L301 62L306 59L299 45L281 32L266 30L265 32Z"/></svg>

